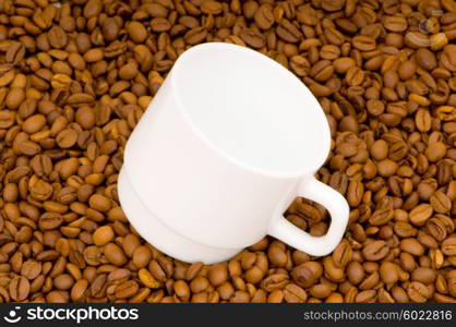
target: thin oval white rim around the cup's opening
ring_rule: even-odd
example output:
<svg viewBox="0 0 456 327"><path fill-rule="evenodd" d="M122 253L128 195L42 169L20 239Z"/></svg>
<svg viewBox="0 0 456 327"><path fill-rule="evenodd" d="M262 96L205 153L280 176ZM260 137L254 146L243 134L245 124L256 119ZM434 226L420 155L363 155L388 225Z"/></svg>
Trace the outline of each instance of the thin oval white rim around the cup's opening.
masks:
<svg viewBox="0 0 456 327"><path fill-rule="evenodd" d="M190 56L195 56L197 55L197 52L200 51L205 51L205 50L209 50L211 48L225 48L227 51L240 51L243 52L247 56L251 56L251 57L255 57L255 60L261 60L264 62L264 64L267 64L269 68L275 69L275 70L279 70L281 74L286 74L287 78L291 78L295 80L296 82L300 83L301 87L303 87L307 92L309 92L311 95L312 93L310 92L310 89L307 88L307 86L303 84L302 81L300 81L293 73L291 73L290 71L288 71L287 69L285 69L280 63L276 62L275 60L266 57L263 53L260 53L255 50L249 49L247 47L242 47L242 46L238 46L238 45L233 45L233 44L227 44L227 43L206 43L206 44L201 44L201 45L196 45L194 47L191 47L190 49L185 50L176 61L175 65L172 66L170 73L168 74L168 78L170 80L170 84L171 84L171 88L173 90L179 89L178 87L178 82L177 82L177 76L179 75L179 71L181 69L182 63L190 57ZM296 83L295 82L295 83ZM185 122L188 123L188 125L191 128L192 132L197 135L197 137L208 147L211 148L211 150L213 150L214 153L216 153L217 155L221 156L224 159L230 161L231 164L236 165L237 167L240 167L243 170L253 172L255 174L261 174L261 175L266 175L268 178L274 178L274 179L284 179L284 178L289 178L289 179L293 179L293 178L299 178L299 177L303 177L310 173L315 173L316 170L319 170L323 164L326 161L326 159L329 156L329 150L331 150L331 131L329 131L329 124L326 121L326 118L324 116L323 110L321 110L321 114L323 116L323 130L325 131L322 135L322 137L317 141L319 143L321 143L321 147L325 147L326 149L322 149L322 152L320 153L321 156L319 158L315 158L314 160L314 165L312 167L305 167L304 169L299 169L299 170L280 170L280 171L276 171L276 170L272 170L272 169L264 169L261 167L257 167L255 165L245 162L244 160L241 159L237 159L235 158L231 154L229 154L228 152L221 149L220 147L218 147L217 145L214 144L214 142L212 142L209 140L209 137L207 137L202 130L194 123L193 119L190 117L190 113L185 110L185 107L183 106L178 92L172 92L172 97L175 99L175 102L177 105L177 108L179 110L179 112L181 113L182 118L185 120ZM312 95L313 96L313 95ZM314 97L314 96L313 96ZM315 98L315 101L316 98ZM319 104L320 106L320 104Z"/></svg>

